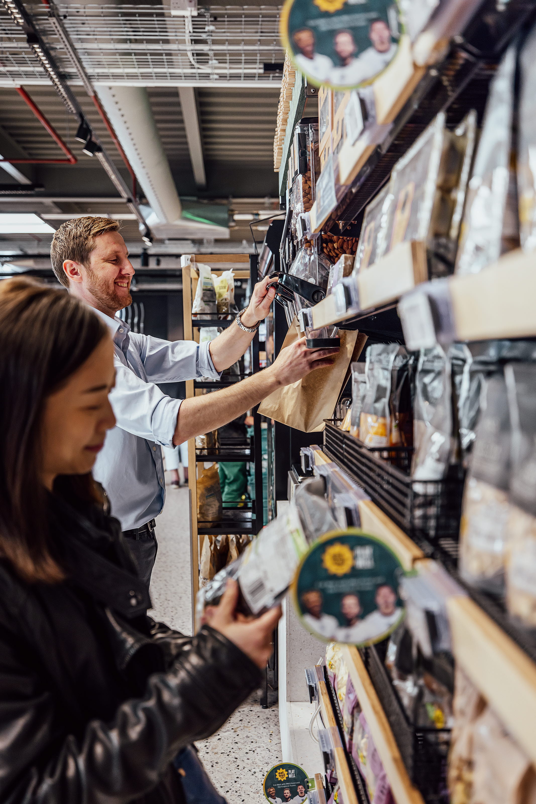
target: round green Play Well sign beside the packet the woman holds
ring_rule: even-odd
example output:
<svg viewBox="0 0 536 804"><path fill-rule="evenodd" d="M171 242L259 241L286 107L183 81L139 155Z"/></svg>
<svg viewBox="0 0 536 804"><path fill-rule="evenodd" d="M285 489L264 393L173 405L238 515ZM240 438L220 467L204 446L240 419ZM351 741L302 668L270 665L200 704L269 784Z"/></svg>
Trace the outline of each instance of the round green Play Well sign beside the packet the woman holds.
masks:
<svg viewBox="0 0 536 804"><path fill-rule="evenodd" d="M325 642L372 645L404 617L403 568L381 539L357 528L332 531L309 549L293 582L302 624Z"/></svg>

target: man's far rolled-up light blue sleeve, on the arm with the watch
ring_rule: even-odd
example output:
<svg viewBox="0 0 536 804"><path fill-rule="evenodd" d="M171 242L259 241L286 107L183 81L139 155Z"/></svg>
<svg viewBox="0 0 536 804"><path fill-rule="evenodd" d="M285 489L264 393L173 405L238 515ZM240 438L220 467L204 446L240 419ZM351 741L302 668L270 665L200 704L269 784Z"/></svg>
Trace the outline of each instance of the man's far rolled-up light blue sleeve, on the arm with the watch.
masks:
<svg viewBox="0 0 536 804"><path fill-rule="evenodd" d="M137 343L145 374L153 383L178 383L198 377L219 379L221 376L212 363L208 342L164 341L137 333L130 333L129 338Z"/></svg>

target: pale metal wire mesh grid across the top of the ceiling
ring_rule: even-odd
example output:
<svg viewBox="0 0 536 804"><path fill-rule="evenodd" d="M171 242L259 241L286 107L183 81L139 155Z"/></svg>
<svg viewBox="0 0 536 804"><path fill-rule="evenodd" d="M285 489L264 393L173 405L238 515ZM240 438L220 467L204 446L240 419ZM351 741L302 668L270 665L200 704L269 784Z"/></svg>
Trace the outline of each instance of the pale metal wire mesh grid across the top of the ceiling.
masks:
<svg viewBox="0 0 536 804"><path fill-rule="evenodd" d="M78 83L46 7L27 7L63 74ZM172 17L165 6L68 4L59 13L93 84L280 85L263 67L284 59L277 7L208 6L184 18ZM47 83L23 30L3 10L0 82Z"/></svg>

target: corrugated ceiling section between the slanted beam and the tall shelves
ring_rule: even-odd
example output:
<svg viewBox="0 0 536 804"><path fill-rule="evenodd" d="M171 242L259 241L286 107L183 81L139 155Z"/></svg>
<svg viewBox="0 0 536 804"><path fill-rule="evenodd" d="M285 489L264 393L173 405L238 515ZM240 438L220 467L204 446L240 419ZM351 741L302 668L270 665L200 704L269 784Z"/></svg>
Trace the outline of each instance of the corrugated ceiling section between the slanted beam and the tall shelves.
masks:
<svg viewBox="0 0 536 804"><path fill-rule="evenodd" d="M279 89L198 89L207 162L272 165Z"/></svg>

